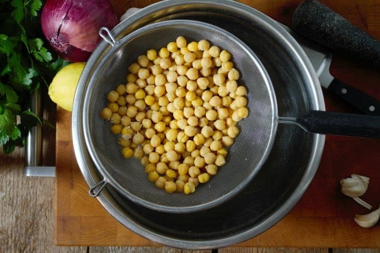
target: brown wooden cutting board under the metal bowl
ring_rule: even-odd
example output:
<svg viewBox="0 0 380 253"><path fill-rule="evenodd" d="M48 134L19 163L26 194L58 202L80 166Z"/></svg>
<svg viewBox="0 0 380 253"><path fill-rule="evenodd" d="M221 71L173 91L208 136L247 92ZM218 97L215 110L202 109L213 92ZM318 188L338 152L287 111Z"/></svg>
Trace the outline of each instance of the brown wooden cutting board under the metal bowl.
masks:
<svg viewBox="0 0 380 253"><path fill-rule="evenodd" d="M112 1L118 15L130 7L151 1ZM290 25L299 0L242 1L272 18ZM380 39L380 1L322 1L355 25ZM380 75L360 63L336 56L331 72L339 79L380 99ZM328 111L355 112L325 93ZM373 206L380 202L380 141L364 138L327 137L318 172L293 210L274 227L236 246L259 247L380 247L380 226L363 229L353 221L355 214L368 211L339 192L339 180L351 174L370 177L363 199ZM57 245L158 245L146 240L113 219L96 198L80 173L71 142L71 113L57 111L56 129Z"/></svg>

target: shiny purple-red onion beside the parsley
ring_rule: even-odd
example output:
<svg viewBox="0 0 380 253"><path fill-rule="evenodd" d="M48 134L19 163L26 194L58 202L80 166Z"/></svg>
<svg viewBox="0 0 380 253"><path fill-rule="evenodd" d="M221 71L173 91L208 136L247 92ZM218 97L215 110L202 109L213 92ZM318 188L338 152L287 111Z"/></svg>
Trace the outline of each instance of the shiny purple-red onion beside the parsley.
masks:
<svg viewBox="0 0 380 253"><path fill-rule="evenodd" d="M112 29L117 24L108 0L48 0L41 13L50 45L72 62L87 61L100 41L100 27Z"/></svg>

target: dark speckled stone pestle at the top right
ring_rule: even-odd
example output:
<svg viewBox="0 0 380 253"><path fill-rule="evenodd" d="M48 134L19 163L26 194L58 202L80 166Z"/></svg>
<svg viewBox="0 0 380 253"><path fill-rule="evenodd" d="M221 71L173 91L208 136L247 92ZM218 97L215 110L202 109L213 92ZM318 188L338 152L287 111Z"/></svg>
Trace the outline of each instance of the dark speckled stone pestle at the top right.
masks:
<svg viewBox="0 0 380 253"><path fill-rule="evenodd" d="M380 69L380 41L318 1L303 1L294 12L292 25L302 35Z"/></svg>

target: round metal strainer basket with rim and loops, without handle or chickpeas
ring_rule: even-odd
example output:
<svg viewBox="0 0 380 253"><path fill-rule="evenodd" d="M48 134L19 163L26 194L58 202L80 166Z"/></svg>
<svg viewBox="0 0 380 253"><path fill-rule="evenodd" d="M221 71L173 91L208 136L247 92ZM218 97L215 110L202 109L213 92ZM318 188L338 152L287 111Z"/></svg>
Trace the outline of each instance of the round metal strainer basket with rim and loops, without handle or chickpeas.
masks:
<svg viewBox="0 0 380 253"><path fill-rule="evenodd" d="M108 34L105 36L103 32ZM143 206L163 212L185 213L210 208L244 189L268 157L277 129L277 103L268 73L240 39L216 26L191 20L163 21L140 28L119 41L106 28L99 32L112 46L93 71L84 94L83 122L87 148L103 180L91 187L97 196L107 185ZM147 179L139 159L124 159L120 136L110 133L110 123L99 116L107 93L125 83L128 66L148 49L160 49L178 36L187 41L207 39L229 51L240 72L239 85L247 88L249 116L239 122L240 134L229 148L226 164L192 194L166 193Z"/></svg>

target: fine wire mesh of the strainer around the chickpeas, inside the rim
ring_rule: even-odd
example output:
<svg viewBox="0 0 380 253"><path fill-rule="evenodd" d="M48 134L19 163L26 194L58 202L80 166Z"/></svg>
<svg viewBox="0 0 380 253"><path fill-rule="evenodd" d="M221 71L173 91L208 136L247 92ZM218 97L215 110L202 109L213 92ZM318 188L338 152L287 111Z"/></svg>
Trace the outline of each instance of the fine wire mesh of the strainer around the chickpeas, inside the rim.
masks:
<svg viewBox="0 0 380 253"><path fill-rule="evenodd" d="M150 183L138 159L122 157L122 148L118 144L120 136L111 134L111 124L99 116L100 110L107 106L107 93L117 85L126 83L128 66L138 56L146 54L146 50L159 50L178 36L184 36L187 41L207 39L211 45L229 51L231 61L241 74L238 83L245 85L248 91L249 116L238 124L241 132L229 148L226 164L218 168L217 175L212 176L208 183L200 184L190 195L168 194ZM97 75L95 73L94 82L89 84L89 104L85 106L88 108L85 114L89 117L90 141L100 163L112 177L111 184L112 180L119 183L124 188L122 193L132 200L138 197L153 204L188 207L209 203L232 192L241 183L248 183L247 178L254 172L267 148L274 122L268 83L242 45L216 29L199 25L166 25L125 39L120 40L120 49L108 58L101 71Z"/></svg>

